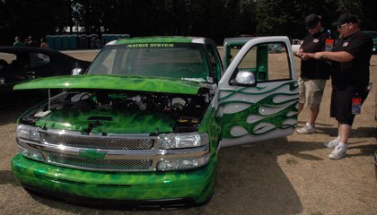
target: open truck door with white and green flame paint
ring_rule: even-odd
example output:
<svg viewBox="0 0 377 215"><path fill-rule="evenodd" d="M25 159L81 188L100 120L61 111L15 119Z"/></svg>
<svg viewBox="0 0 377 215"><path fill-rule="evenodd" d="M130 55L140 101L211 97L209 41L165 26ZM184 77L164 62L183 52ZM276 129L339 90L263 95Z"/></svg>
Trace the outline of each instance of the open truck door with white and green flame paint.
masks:
<svg viewBox="0 0 377 215"><path fill-rule="evenodd" d="M285 45L289 40L244 42L242 48L241 42L227 48L224 58L232 64L219 83L222 147L286 136L297 125L298 85Z"/></svg>

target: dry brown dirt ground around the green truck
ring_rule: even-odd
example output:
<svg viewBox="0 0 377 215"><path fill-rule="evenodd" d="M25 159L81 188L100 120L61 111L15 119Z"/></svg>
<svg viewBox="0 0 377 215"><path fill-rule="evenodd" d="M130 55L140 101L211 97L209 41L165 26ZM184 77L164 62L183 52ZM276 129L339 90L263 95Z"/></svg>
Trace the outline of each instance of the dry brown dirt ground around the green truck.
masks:
<svg viewBox="0 0 377 215"><path fill-rule="evenodd" d="M68 52L91 60L93 52ZM298 62L297 62L298 63ZM298 65L298 64L297 64ZM27 105L0 108L0 214L377 214L377 180L373 167L374 99L377 56L371 61L374 88L356 116L347 156L329 159L322 142L337 136L329 117L328 82L317 133L221 149L215 194L205 206L178 211L96 210L54 202L25 192L14 180L10 160L17 153L15 121ZM308 111L299 116L299 125Z"/></svg>

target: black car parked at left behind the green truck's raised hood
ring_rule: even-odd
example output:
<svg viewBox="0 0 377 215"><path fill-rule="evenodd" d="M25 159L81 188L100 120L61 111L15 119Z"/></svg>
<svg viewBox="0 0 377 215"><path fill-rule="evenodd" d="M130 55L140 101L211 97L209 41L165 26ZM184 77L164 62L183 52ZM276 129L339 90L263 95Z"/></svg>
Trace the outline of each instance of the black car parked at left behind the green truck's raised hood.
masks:
<svg viewBox="0 0 377 215"><path fill-rule="evenodd" d="M91 62L67 56L61 52L39 47L0 47L0 106L40 99L40 91L17 91L20 82L47 76L69 75L86 70Z"/></svg>

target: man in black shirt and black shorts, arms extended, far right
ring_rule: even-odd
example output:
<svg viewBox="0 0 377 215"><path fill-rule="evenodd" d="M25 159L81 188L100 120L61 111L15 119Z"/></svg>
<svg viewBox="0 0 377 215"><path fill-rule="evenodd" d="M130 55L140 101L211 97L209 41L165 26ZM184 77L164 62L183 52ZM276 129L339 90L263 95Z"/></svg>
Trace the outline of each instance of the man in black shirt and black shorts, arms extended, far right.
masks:
<svg viewBox="0 0 377 215"><path fill-rule="evenodd" d="M303 54L303 57L328 59L331 66L331 107L330 116L338 121L338 137L323 145L335 148L330 159L342 159L346 156L347 140L354 123L355 114L368 95L369 64L372 56L373 39L359 29L355 15L345 13L339 16L340 39L333 52Z"/></svg>

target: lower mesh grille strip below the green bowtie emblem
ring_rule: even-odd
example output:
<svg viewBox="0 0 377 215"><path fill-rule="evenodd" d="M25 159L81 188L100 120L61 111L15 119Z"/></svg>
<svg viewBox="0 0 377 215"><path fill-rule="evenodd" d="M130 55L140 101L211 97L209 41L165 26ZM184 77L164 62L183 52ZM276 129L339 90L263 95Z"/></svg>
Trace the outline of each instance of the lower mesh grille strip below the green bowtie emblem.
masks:
<svg viewBox="0 0 377 215"><path fill-rule="evenodd" d="M65 164L65 166L88 169L113 169L113 170L147 170L152 166L151 159L86 159L60 153L49 152L48 162Z"/></svg>

